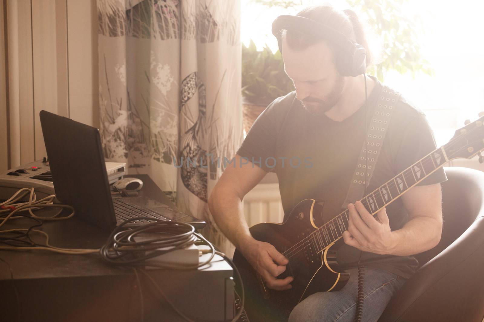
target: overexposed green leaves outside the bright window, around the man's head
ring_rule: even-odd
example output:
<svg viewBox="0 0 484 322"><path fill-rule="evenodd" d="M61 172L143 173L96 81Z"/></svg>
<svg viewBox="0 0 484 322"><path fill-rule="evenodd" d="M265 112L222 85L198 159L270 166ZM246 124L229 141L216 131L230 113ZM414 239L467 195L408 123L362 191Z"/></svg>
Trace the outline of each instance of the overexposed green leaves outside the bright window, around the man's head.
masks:
<svg viewBox="0 0 484 322"><path fill-rule="evenodd" d="M292 10L302 9L308 0L250 0L266 7L282 7ZM423 33L422 18L414 14L404 14L405 0L346 0L359 14L362 21L367 21L370 28L383 43L377 56L376 65L368 69L368 74L383 81L389 70L400 74L410 72L415 77L417 72L432 76L434 70L420 54L419 34ZM313 1L314 3L314 1Z"/></svg>

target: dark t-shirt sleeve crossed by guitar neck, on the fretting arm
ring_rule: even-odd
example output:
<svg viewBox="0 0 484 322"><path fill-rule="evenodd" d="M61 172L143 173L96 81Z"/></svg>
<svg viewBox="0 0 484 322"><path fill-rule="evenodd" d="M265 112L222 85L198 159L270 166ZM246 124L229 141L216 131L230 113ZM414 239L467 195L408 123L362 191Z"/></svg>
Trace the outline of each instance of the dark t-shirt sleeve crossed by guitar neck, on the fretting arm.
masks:
<svg viewBox="0 0 484 322"><path fill-rule="evenodd" d="M425 155L437 149L434 133L425 114L418 113L403 132L400 147L396 151L396 173L400 173ZM447 181L443 167L440 167L417 185L429 185Z"/></svg>

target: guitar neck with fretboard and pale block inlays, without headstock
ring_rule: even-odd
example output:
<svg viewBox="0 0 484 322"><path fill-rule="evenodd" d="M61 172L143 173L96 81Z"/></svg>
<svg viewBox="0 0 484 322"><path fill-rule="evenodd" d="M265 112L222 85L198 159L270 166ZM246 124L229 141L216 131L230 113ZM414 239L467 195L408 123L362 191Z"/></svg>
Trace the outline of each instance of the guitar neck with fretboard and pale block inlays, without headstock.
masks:
<svg viewBox="0 0 484 322"><path fill-rule="evenodd" d="M451 141L452 142L452 141ZM411 187L442 167L449 161L446 154L446 147L451 143L447 143L440 148L425 155L422 159L406 168L392 179L372 191L361 199L363 206L373 216L379 210L386 207L398 197L406 193ZM326 224L319 227L312 233L315 236L315 244L319 251L322 251L330 244L343 237L343 232L348 230L349 209L341 212Z"/></svg>

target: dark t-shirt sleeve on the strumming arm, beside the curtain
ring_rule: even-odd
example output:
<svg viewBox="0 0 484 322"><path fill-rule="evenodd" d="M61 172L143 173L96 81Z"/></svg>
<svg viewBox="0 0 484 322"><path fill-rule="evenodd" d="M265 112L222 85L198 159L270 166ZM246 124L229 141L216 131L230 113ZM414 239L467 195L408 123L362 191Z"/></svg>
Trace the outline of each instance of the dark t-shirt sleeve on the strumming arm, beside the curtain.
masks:
<svg viewBox="0 0 484 322"><path fill-rule="evenodd" d="M274 158L277 139L274 108L274 102L272 102L260 113L237 151L237 154L246 157L249 162L266 172L270 172L273 168L271 158Z"/></svg>

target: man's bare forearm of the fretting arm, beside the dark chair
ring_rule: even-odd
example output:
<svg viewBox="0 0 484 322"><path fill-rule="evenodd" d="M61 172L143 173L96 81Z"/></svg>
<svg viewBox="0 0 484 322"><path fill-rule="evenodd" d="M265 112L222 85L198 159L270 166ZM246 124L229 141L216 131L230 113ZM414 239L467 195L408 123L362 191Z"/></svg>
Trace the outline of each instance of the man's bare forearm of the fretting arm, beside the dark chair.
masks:
<svg viewBox="0 0 484 322"><path fill-rule="evenodd" d="M442 222L431 217L415 217L393 233L396 243L388 253L399 256L418 254L439 243Z"/></svg>

